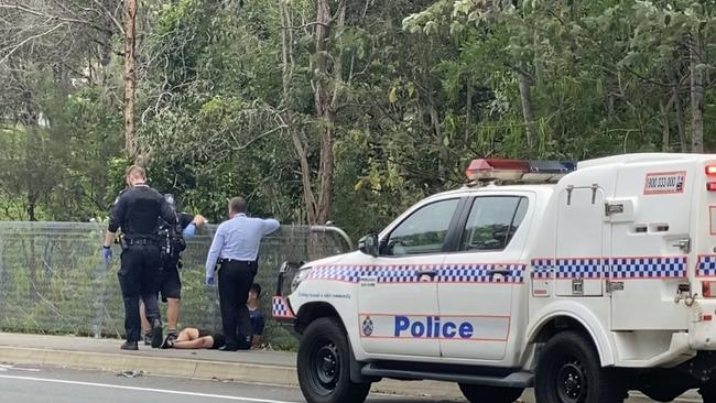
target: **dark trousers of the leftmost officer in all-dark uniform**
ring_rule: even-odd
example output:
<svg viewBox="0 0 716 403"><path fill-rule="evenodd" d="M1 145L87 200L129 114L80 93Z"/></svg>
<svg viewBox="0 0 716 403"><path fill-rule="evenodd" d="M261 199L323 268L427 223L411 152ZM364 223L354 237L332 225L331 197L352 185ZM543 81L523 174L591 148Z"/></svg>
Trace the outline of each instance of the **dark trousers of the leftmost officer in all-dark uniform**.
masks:
<svg viewBox="0 0 716 403"><path fill-rule="evenodd" d="M156 246L132 246L122 251L121 269L117 276L124 299L124 331L127 341L139 341L142 323L139 298L144 302L147 319L160 319L156 302L156 273L160 259Z"/></svg>

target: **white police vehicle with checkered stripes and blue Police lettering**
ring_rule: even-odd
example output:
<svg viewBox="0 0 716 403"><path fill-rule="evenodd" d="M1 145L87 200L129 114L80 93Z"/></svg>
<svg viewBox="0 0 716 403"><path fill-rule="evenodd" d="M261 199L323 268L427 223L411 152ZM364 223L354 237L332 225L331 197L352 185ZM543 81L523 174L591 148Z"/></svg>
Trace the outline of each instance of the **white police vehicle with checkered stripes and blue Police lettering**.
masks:
<svg viewBox="0 0 716 403"><path fill-rule="evenodd" d="M310 403L362 402L382 378L484 403L532 386L539 403L716 402L716 155L476 160L467 175L360 251L294 268L285 295L284 264L273 315L303 335Z"/></svg>

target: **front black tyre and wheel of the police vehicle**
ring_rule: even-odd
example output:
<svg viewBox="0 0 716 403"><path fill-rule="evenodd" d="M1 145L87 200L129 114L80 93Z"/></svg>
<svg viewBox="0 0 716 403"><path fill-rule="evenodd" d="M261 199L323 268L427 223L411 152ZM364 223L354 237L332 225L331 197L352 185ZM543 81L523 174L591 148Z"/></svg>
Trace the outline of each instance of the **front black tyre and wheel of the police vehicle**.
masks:
<svg viewBox="0 0 716 403"><path fill-rule="evenodd" d="M348 336L336 318L318 318L299 346L299 384L308 403L362 403L370 383L350 381Z"/></svg>

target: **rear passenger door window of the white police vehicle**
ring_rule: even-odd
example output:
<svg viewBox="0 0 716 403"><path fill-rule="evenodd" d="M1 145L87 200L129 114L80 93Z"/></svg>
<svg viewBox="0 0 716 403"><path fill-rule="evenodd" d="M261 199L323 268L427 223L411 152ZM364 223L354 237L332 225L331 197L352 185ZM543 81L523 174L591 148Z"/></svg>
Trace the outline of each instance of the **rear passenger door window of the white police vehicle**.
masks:
<svg viewBox="0 0 716 403"><path fill-rule="evenodd" d="M524 219L527 197L476 197L465 224L460 251L498 251L507 248Z"/></svg>

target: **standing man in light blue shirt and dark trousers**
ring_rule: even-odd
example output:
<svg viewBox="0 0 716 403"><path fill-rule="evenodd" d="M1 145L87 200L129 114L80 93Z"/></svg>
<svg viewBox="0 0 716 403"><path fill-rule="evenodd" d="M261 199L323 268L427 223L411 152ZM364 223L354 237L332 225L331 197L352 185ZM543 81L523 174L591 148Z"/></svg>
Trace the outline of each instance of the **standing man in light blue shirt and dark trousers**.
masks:
<svg viewBox="0 0 716 403"><path fill-rule="evenodd" d="M247 217L241 197L229 202L229 220L216 230L206 259L206 283L214 284L214 269L219 264L219 303L226 346L223 350L251 348L252 328L246 306L259 262L261 238L281 226L274 219Z"/></svg>

